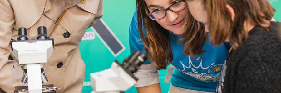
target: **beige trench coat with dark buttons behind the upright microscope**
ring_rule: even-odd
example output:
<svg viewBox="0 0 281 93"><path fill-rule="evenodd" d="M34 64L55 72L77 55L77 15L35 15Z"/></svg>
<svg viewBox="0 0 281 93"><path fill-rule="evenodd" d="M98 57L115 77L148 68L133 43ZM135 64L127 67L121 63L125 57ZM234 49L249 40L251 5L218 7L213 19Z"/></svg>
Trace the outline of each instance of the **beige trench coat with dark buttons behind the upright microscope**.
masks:
<svg viewBox="0 0 281 93"><path fill-rule="evenodd" d="M103 0L1 0L0 1L0 88L13 92L15 86L27 86L21 82L23 71L13 68L18 64L11 51L11 40L16 40L18 28L27 28L29 40L36 39L37 28L45 26L49 35L55 22L66 10L57 29L52 34L55 49L44 71L47 84L62 87L56 93L81 93L85 77L85 64L81 59L78 44L85 31L103 15ZM69 32L69 38L63 34ZM8 56L14 60L8 60ZM61 68L57 64L62 62Z"/></svg>

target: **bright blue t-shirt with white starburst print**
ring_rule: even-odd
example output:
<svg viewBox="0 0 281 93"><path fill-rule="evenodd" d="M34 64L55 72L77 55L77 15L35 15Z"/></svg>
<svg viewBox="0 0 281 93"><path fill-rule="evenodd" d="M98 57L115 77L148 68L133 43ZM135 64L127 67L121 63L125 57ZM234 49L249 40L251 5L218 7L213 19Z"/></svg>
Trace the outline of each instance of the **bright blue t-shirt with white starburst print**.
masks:
<svg viewBox="0 0 281 93"><path fill-rule="evenodd" d="M170 79L172 85L191 90L215 92L220 70L228 55L228 50L230 48L229 43L223 43L219 47L214 47L214 44L209 42L208 36L208 40L203 47L203 50L206 50L205 53L194 56L194 59L200 57L199 60L195 61L192 60L191 56L183 55L183 43L177 43L179 38L180 35L170 33L170 42L173 51L173 61L171 64L176 68ZM138 42L140 40L135 11L129 28L131 52L134 49L143 52L143 42ZM144 64L150 64L150 62L146 60Z"/></svg>

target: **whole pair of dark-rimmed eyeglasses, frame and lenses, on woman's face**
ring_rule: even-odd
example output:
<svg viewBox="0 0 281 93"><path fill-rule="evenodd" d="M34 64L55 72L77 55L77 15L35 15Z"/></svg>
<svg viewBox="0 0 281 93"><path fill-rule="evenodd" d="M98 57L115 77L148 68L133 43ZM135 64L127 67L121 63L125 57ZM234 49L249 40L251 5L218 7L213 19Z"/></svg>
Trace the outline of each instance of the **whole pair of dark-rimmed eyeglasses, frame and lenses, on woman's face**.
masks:
<svg viewBox="0 0 281 93"><path fill-rule="evenodd" d="M145 13L146 15L152 20L160 20L167 15L167 11L170 10L172 12L179 12L182 11L187 7L187 3L183 2L183 0L176 0L173 2L171 6L165 9L156 9L152 12L148 13L147 6L145 3Z"/></svg>

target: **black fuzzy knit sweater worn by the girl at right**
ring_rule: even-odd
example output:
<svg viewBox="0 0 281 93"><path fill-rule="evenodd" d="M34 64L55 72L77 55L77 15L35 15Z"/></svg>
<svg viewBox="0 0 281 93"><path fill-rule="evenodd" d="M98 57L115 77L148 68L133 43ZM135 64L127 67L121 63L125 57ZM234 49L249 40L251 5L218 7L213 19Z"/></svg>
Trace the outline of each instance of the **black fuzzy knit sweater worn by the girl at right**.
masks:
<svg viewBox="0 0 281 93"><path fill-rule="evenodd" d="M269 31L255 26L229 53L217 93L281 93L281 25L270 24Z"/></svg>

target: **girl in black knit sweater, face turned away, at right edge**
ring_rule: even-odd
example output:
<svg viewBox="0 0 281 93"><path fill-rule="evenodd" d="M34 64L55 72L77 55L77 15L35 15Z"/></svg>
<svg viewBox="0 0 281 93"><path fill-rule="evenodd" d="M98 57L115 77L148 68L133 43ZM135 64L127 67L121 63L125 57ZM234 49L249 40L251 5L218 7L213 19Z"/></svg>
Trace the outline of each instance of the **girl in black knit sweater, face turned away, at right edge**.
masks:
<svg viewBox="0 0 281 93"><path fill-rule="evenodd" d="M210 42L230 41L218 93L281 92L281 24L267 0L187 0ZM198 16L200 15L200 16ZM204 19L204 20L202 20Z"/></svg>

